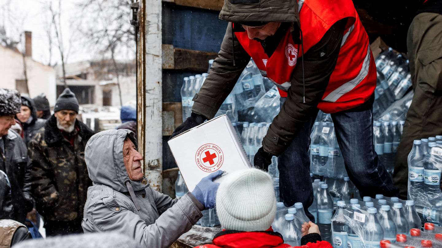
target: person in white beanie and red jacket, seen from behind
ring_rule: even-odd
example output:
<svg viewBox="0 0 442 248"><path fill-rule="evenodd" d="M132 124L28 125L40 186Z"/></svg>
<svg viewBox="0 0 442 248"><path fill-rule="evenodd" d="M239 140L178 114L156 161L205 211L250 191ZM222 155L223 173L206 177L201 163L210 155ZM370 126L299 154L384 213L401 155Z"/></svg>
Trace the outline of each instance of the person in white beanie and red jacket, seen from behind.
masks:
<svg viewBox="0 0 442 248"><path fill-rule="evenodd" d="M310 182L310 181L309 181ZM271 224L276 214L276 198L271 177L259 169L231 173L221 182L216 207L222 232L212 244L197 248L290 248ZM308 248L332 248L321 241L319 228L313 222L302 225L301 245Z"/></svg>

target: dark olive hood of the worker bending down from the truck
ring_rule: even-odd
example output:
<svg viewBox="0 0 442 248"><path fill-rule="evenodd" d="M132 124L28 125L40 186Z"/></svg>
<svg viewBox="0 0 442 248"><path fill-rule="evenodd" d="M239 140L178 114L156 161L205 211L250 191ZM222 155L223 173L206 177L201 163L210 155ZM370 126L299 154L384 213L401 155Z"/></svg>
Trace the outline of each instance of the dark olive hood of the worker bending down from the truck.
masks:
<svg viewBox="0 0 442 248"><path fill-rule="evenodd" d="M290 22L300 26L297 0L224 0L219 19L233 23Z"/></svg>

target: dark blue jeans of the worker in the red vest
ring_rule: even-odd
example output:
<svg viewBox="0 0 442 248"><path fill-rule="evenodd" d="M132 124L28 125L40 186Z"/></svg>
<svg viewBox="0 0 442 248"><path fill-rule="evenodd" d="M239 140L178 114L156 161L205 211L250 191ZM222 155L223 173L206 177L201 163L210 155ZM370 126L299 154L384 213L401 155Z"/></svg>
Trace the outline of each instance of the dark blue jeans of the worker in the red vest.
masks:
<svg viewBox="0 0 442 248"><path fill-rule="evenodd" d="M281 98L281 106L286 98ZM307 210L313 203L313 188L310 182L310 133L316 115L299 130L293 142L278 157L279 194L286 206L301 202L305 214L313 220ZM358 188L361 197L376 194L397 196L399 190L381 164L373 146L373 109L361 112L338 112L331 114L335 124L336 139L347 169L348 177Z"/></svg>

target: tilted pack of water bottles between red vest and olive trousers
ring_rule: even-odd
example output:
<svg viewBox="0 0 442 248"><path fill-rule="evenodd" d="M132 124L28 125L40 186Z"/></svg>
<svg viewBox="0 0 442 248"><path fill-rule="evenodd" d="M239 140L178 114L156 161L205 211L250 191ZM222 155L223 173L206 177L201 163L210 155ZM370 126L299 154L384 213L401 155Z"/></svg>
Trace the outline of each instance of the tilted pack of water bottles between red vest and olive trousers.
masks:
<svg viewBox="0 0 442 248"><path fill-rule="evenodd" d="M390 108L395 101L404 97L405 93L412 86L411 75L409 71L409 61L401 54L397 54L390 47L375 60L377 69L376 89L374 92L373 115L377 119L387 113L391 120L398 120L402 114L406 113L406 105L396 104ZM408 105L409 106L409 105ZM395 111L392 111L395 109Z"/></svg>

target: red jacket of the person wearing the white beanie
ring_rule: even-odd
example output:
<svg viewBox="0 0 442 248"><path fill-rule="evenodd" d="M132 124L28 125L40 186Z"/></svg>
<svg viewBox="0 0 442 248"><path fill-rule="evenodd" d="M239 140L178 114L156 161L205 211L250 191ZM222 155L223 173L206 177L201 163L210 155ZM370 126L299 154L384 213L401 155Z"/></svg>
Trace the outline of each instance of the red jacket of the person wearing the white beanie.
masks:
<svg viewBox="0 0 442 248"><path fill-rule="evenodd" d="M196 248L293 248L284 244L282 235L267 231L242 232L223 230L213 237L212 244L197 246ZM321 241L317 233L310 233L302 237L301 246L294 248L332 248L327 241Z"/></svg>

